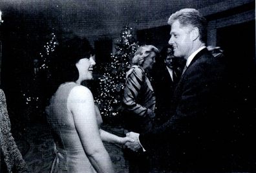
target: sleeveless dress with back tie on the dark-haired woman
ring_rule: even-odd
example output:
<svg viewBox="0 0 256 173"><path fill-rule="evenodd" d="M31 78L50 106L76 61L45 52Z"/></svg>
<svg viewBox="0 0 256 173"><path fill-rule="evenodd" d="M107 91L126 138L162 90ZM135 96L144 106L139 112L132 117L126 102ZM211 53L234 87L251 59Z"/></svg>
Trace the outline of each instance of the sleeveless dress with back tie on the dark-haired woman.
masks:
<svg viewBox="0 0 256 173"><path fill-rule="evenodd" d="M59 86L46 109L55 145L55 158L50 172L96 172L85 154L73 115L67 109L67 98L75 86L79 85L67 82Z"/></svg>

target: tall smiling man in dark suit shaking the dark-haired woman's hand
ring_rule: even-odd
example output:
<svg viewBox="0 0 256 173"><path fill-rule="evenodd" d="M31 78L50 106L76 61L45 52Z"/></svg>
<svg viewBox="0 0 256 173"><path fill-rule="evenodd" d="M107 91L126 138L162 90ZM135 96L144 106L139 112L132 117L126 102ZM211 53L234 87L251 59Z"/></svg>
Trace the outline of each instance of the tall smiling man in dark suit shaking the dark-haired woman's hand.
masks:
<svg viewBox="0 0 256 173"><path fill-rule="evenodd" d="M186 59L175 89L173 111L167 122L150 132L127 133L135 141L125 145L154 154L156 149L164 150L163 171L227 170L232 123L224 106L224 62L207 50L207 22L197 10L182 9L169 17L168 24L175 57Z"/></svg>

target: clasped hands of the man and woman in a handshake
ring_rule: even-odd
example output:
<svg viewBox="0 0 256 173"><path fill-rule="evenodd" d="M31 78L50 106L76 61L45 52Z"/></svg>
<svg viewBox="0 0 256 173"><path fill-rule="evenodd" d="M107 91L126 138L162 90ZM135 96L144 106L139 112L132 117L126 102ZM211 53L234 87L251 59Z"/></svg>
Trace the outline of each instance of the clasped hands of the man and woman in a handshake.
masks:
<svg viewBox="0 0 256 173"><path fill-rule="evenodd" d="M138 141L139 135L140 134L136 132L127 132L126 137L122 138L121 143L124 145L124 147L136 152L138 149L142 148L140 142Z"/></svg>

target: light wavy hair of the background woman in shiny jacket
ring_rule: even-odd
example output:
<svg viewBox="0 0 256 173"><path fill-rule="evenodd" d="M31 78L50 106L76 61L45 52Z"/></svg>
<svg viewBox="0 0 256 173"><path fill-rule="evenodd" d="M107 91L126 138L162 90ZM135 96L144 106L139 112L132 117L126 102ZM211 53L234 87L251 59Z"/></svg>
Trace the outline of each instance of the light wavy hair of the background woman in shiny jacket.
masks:
<svg viewBox="0 0 256 173"><path fill-rule="evenodd" d="M152 52L155 52L156 54L158 54L159 50L153 45L140 46L138 50L134 53L132 64L142 66L145 58L148 57Z"/></svg>

